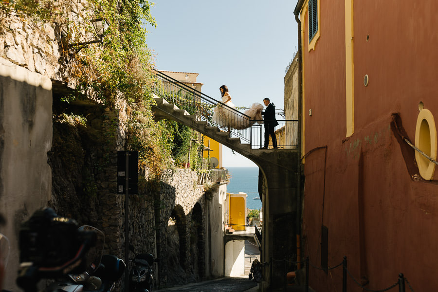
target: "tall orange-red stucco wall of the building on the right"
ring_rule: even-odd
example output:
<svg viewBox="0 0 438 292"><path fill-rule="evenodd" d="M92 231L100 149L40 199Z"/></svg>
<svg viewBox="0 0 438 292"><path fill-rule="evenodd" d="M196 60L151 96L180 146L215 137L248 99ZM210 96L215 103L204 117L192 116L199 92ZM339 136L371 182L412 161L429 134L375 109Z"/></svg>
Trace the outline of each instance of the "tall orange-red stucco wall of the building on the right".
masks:
<svg viewBox="0 0 438 292"><path fill-rule="evenodd" d="M410 141L420 101L438 122L438 2L354 1L354 133L348 138L345 1L320 5L321 37L310 52L302 19L306 254L321 264L324 225L329 266L347 256L348 270L369 280L368 289L387 288L403 273L415 291L435 291L438 181L415 172L414 150L391 128L391 114L399 112ZM329 274L310 268L310 286L341 291L342 268ZM362 291L350 277L347 287Z"/></svg>

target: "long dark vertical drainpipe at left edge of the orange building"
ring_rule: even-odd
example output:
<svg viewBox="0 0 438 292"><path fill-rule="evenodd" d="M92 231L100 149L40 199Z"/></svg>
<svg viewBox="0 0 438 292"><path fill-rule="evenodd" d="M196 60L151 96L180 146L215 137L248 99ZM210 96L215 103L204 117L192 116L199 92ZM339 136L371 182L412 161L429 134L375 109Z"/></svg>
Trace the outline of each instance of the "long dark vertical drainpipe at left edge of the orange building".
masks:
<svg viewBox="0 0 438 292"><path fill-rule="evenodd" d="M298 170L298 182L297 182L297 199L296 199L296 260L300 261L301 259L301 125L302 125L302 114L301 114L301 98L302 98L302 51L301 51L301 21L298 18L298 15L301 11L301 6L303 5L304 0L298 0L295 6L295 10L293 14L295 15L295 20L298 26L298 52L297 52L297 62L298 62L298 152L300 159L297 160L297 170ZM301 264L298 263L297 268L301 268Z"/></svg>

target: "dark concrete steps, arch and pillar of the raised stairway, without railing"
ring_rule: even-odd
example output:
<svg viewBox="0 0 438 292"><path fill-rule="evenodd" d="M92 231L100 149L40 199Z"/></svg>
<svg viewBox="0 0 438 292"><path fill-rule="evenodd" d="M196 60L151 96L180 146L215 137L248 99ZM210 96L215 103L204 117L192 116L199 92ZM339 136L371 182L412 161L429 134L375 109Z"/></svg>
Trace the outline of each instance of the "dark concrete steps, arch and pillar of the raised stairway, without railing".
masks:
<svg viewBox="0 0 438 292"><path fill-rule="evenodd" d="M301 207L299 152L297 149L252 149L231 138L227 132L199 121L195 115L154 95L155 120L169 119L188 126L218 141L253 161L261 170L263 180L263 239L261 261L264 267L263 291L281 285L286 276L284 261L297 254L297 211ZM260 179L260 178L259 178ZM300 214L300 213L298 213ZM299 225L298 225L299 226ZM286 272L287 273L287 272Z"/></svg>

